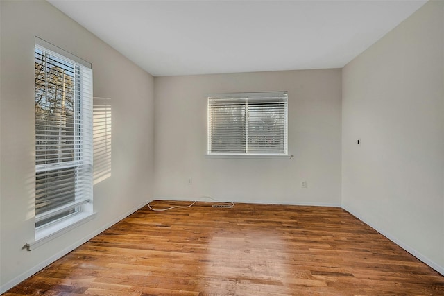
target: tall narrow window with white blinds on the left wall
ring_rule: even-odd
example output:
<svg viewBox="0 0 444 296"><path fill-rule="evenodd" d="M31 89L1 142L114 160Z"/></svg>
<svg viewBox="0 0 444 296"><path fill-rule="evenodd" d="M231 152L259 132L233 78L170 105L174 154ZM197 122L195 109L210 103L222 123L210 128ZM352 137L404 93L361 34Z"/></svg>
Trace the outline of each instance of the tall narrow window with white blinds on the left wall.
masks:
<svg viewBox="0 0 444 296"><path fill-rule="evenodd" d="M91 201L91 64L39 40L35 45L35 227L76 215Z"/></svg>

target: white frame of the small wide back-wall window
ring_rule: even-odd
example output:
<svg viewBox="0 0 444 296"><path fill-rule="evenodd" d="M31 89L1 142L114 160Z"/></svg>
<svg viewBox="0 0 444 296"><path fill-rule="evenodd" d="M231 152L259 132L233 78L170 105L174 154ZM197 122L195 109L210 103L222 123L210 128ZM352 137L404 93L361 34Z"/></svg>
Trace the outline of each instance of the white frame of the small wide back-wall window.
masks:
<svg viewBox="0 0 444 296"><path fill-rule="evenodd" d="M239 151L214 151L214 149L212 149L212 141L213 141L213 132L212 132L212 128L213 128L213 123L212 123L212 116L215 113L214 111L214 106L217 106L218 103L214 103L216 101L220 101L222 103L219 103L221 106L223 106L223 102L227 102L227 105L229 105L230 103L228 102L232 102L233 104L239 104L239 105L244 105L244 114L241 114L241 116L239 116L239 118L241 118L242 120L245 121L244 124L244 137L245 138L245 151L244 152L239 152ZM253 149L253 151L250 151L250 143L252 143L253 141L250 141L249 138L249 130L250 130L250 126L252 123L252 120L249 119L249 113L250 111L250 106L249 105L258 105L258 102L261 101L264 103L264 105L266 104L270 104L270 105L275 105L276 103L283 103L283 108L278 108L278 109L283 109L280 110L278 116L275 117L275 120L278 119L279 116L284 116L284 120L282 121L282 119L280 119L280 123L278 128L280 128L278 130L278 132L282 132L283 134L283 139L279 141L279 144L283 145L283 148L281 150L276 151L275 149L271 148L271 146L268 146L268 148L270 148L270 150L262 150L262 152L255 152ZM244 102L244 103L242 103ZM258 109L258 108L257 108ZM256 117L255 119L258 119L257 116L260 115L260 113L262 113L262 109L260 109L261 111L259 111L259 113L254 113L252 112ZM265 107L263 110L266 110ZM268 117L268 119L270 119L271 117ZM262 119L263 121L265 121L265 119L267 119L266 116L259 118ZM260 127L261 125L255 125L257 127ZM282 129L282 130L281 130ZM271 137L279 137L278 132L276 132L275 134L270 134ZM264 137L266 134L263 133L261 134L262 137ZM260 137L260 136L259 136ZM242 140L241 140L242 141ZM258 145L258 144L256 144ZM260 147L260 146L259 146ZM266 146L264 146L266 148ZM257 148L257 146L256 146ZM257 149L256 149L257 150ZM207 95L207 157L215 157L215 158L253 158L253 157L257 157L257 158L287 158L289 157L289 148L288 148L288 92L246 92L246 93L228 93L228 94L210 94Z"/></svg>

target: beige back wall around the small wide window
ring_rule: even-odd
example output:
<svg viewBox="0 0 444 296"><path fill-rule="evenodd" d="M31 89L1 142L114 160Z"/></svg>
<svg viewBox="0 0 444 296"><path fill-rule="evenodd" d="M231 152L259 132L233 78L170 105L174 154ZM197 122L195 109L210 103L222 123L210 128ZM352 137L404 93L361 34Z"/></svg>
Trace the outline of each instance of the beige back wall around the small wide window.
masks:
<svg viewBox="0 0 444 296"><path fill-rule="evenodd" d="M160 77L154 85L155 198L340 204L341 69ZM205 157L205 94L266 91L288 91L294 158Z"/></svg>

